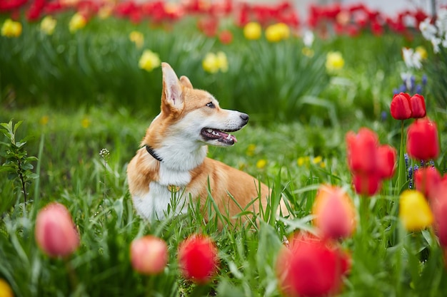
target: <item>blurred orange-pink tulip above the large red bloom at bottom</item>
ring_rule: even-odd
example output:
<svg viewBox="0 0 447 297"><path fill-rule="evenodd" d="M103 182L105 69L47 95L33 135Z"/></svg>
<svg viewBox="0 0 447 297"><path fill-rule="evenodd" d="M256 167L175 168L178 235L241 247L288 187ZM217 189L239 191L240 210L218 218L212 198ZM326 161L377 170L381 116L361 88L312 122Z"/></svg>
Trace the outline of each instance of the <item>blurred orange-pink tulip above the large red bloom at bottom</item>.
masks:
<svg viewBox="0 0 447 297"><path fill-rule="evenodd" d="M356 209L346 191L323 185L318 189L312 213L323 239L348 237L356 229Z"/></svg>

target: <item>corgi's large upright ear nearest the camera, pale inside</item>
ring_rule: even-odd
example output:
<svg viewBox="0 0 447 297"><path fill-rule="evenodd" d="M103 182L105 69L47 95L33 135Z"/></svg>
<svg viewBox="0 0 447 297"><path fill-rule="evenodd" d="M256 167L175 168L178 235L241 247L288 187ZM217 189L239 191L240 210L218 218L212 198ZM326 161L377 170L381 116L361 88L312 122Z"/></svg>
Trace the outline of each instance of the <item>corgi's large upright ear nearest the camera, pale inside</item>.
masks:
<svg viewBox="0 0 447 297"><path fill-rule="evenodd" d="M162 105L166 104L174 110L182 110L184 107L184 98L181 94L181 85L174 70L168 63L161 63L163 71L163 97Z"/></svg>

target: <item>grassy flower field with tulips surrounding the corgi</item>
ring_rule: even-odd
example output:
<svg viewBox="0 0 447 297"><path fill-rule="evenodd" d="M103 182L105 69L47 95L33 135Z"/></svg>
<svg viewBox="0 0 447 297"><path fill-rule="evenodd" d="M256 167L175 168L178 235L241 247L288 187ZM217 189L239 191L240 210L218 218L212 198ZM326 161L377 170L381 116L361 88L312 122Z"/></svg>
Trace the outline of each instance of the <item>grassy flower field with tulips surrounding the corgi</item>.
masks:
<svg viewBox="0 0 447 297"><path fill-rule="evenodd" d="M447 296L447 10L306 16L0 1L0 296ZM126 166L164 61L250 115L209 156L259 177L288 216L219 229L210 195L206 215L191 201L138 217Z"/></svg>

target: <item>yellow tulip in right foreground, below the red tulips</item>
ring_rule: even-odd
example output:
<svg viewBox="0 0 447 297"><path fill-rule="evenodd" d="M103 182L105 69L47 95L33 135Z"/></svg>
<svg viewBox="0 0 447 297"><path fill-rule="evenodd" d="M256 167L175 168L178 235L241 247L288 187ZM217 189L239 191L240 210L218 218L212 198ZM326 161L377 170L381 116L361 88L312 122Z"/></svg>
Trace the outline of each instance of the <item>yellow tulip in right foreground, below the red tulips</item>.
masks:
<svg viewBox="0 0 447 297"><path fill-rule="evenodd" d="M425 229L433 223L430 206L421 192L411 189L402 192L399 219L407 231Z"/></svg>

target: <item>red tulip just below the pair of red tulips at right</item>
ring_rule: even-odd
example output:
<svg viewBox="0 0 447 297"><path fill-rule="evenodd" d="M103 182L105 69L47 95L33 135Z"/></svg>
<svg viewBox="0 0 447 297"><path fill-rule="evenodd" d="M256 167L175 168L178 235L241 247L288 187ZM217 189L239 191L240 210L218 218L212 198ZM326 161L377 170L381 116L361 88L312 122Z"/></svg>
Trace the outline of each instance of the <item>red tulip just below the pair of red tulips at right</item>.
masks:
<svg viewBox="0 0 447 297"><path fill-rule="evenodd" d="M428 118L414 121L408 127L407 151L410 157L428 161L439 155L438 129Z"/></svg>

